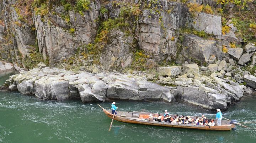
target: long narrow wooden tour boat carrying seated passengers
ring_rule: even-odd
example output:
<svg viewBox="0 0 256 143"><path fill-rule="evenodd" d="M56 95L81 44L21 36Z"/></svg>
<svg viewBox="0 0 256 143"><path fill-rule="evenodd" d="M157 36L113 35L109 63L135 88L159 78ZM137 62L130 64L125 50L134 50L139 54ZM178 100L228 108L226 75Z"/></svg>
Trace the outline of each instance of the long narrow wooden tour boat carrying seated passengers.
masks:
<svg viewBox="0 0 256 143"><path fill-rule="evenodd" d="M106 110L103 107L101 107L101 108L102 108L103 112L109 118L111 118L111 119L113 118L113 114L112 114L111 110ZM143 117L143 116L149 115L149 114L150 113L137 112L137 111L132 111L132 112L117 111L117 115L114 116L114 120L120 121L120 122L133 123L133 124L175 127L175 128L189 128L189 129L208 130L208 131L209 130L210 131L230 131L232 128L236 127L235 125L230 124L230 121L226 121L226 120L221 121L221 126L204 126L204 125L191 125L191 124L172 124L169 122L155 122L155 121L152 122L152 121L148 121L148 120L140 118L140 117ZM152 114L153 114L153 116L158 115L157 113L152 113ZM175 115L171 115L171 116L174 117ZM190 116L190 118L196 119L196 117L193 117L193 116Z"/></svg>

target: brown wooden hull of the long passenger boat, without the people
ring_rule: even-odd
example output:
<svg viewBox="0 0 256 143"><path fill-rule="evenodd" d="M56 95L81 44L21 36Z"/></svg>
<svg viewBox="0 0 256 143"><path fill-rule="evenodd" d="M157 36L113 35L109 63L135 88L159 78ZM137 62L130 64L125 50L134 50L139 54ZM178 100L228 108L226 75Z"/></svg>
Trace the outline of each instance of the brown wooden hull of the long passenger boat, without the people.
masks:
<svg viewBox="0 0 256 143"><path fill-rule="evenodd" d="M111 114L111 110L106 110L104 108L102 108L102 110L109 118L111 118L111 119L113 118L113 114ZM143 112L135 112L135 113L143 113ZM118 111L117 115L114 116L114 120L120 121L120 122L132 123L132 124L175 127L175 128L188 128L188 129L208 130L208 131L209 130L210 131L230 131L232 128L235 128L235 125L227 124L227 123L225 123L225 125L221 125L221 126L203 126L203 125L191 125L191 124L171 124L171 123L167 123L167 122L151 122L151 121L144 121L139 118L132 118L132 117L125 118L125 117L121 116L122 114L132 115L132 112ZM149 113L145 113L145 114L149 114ZM225 122L225 120L224 120L224 122Z"/></svg>

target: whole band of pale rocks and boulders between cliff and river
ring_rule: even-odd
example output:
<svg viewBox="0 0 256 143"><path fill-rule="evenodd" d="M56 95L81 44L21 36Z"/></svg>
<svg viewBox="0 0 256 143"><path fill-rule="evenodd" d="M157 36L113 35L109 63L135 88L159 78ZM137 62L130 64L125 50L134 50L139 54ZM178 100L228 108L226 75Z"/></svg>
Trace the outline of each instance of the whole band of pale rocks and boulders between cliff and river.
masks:
<svg viewBox="0 0 256 143"><path fill-rule="evenodd" d="M209 110L226 110L232 102L239 101L244 93L251 94L252 91L250 87L233 80L237 73L232 78L231 75L224 78L226 72L223 68L227 71L231 65L227 68L226 65L222 65L224 61L215 63L218 65L217 68L222 69L210 76L203 75L204 67L200 67L199 70L197 64L185 62L182 66L159 67L158 77L142 71L74 72L45 67L39 63L38 68L21 70L20 74L10 76L2 88L49 100L79 98L83 103L110 100L183 100ZM206 67L206 70L209 69ZM236 70L233 68L230 72L235 73ZM222 76L219 76L220 73ZM254 87L255 76L243 75L247 72L241 73L240 82L245 80L247 85Z"/></svg>

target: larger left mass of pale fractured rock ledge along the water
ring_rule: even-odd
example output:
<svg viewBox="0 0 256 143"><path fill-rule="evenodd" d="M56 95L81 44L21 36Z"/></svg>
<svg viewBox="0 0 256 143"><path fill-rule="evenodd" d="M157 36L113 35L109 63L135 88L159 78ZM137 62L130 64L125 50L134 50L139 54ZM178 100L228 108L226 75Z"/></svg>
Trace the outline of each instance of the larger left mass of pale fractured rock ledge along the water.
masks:
<svg viewBox="0 0 256 143"><path fill-rule="evenodd" d="M175 101L169 88L132 75L91 74L48 67L22 71L11 76L9 88L40 99L62 100L80 97L82 102L106 99Z"/></svg>

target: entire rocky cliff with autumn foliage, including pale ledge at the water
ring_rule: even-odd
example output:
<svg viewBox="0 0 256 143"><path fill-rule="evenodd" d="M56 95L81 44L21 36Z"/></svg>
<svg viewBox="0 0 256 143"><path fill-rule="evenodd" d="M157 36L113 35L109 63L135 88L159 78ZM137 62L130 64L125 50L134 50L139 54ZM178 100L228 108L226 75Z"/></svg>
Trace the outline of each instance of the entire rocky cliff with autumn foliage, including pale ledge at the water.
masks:
<svg viewBox="0 0 256 143"><path fill-rule="evenodd" d="M84 102L183 99L226 109L250 93L246 83L254 87L255 5L255 0L0 0L0 59L17 70L31 69L18 76L30 79L13 77L6 85L42 99L74 93ZM94 93L93 85L70 78L55 84L66 75L59 69L49 69L54 79L43 78L43 84L33 73L47 76L48 68L33 68L47 66L65 68L78 79L91 76L102 88ZM113 70L143 71L146 77L94 75ZM141 85L145 78L149 82Z"/></svg>

